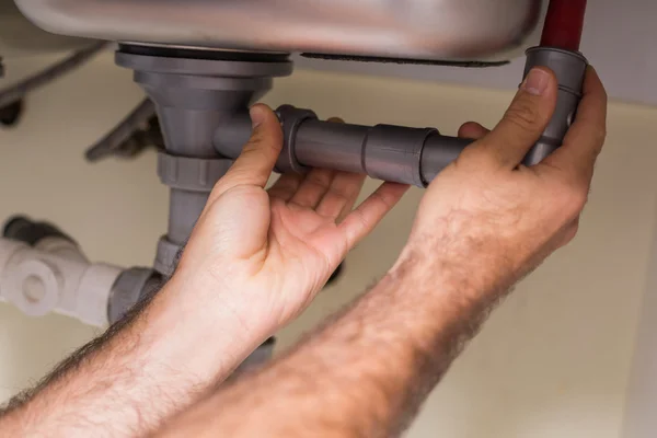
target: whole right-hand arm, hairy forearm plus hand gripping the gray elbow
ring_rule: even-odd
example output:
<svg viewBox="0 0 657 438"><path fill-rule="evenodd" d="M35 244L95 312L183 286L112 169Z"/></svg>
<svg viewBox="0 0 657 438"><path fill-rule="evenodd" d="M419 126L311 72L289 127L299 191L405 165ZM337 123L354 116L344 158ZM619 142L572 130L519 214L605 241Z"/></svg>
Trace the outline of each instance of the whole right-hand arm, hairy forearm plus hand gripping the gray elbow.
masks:
<svg viewBox="0 0 657 438"><path fill-rule="evenodd" d="M606 138L607 94L589 68L564 145L522 159L556 105L534 69L493 131L431 183L395 265L362 298L268 367L219 389L157 437L394 437L512 286L570 242Z"/></svg>

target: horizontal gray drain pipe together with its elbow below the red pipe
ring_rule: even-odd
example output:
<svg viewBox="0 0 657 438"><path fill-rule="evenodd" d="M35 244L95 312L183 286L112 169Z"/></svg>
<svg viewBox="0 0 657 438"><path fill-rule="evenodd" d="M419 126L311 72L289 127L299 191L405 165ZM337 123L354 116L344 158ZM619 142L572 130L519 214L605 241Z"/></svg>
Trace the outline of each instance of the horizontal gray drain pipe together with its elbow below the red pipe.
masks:
<svg viewBox="0 0 657 438"><path fill-rule="evenodd" d="M526 165L540 163L562 146L576 117L588 62L579 53L534 47L527 51L525 76L537 66L554 71L558 99L550 124L523 161ZM442 136L435 128L321 122L312 111L290 105L280 106L276 113L285 136L277 163L281 173L325 168L426 187L472 142ZM216 131L215 148L223 157L235 159L250 135L247 114L228 118Z"/></svg>

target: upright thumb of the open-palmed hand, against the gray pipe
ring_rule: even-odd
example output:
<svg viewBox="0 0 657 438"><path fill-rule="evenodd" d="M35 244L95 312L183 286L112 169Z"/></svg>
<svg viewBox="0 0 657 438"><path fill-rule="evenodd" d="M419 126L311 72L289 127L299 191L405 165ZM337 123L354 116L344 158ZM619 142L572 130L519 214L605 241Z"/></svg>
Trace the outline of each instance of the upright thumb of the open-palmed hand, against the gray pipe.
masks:
<svg viewBox="0 0 657 438"><path fill-rule="evenodd" d="M239 185L265 187L267 184L283 149L280 123L274 112L262 104L251 108L251 119L253 123L251 139L226 176L217 183L210 199Z"/></svg>

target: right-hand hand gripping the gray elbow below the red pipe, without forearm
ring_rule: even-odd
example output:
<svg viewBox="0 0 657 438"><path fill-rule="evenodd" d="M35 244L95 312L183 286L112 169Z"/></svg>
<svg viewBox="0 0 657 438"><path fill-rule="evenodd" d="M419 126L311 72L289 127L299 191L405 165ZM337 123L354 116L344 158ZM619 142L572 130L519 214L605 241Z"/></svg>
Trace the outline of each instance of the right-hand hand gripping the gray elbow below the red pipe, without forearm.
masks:
<svg viewBox="0 0 657 438"><path fill-rule="evenodd" d="M534 69L495 129L461 128L476 141L429 186L400 263L424 260L462 289L499 295L575 237L606 138L607 94L589 68L563 147L527 168L556 99L554 73Z"/></svg>

